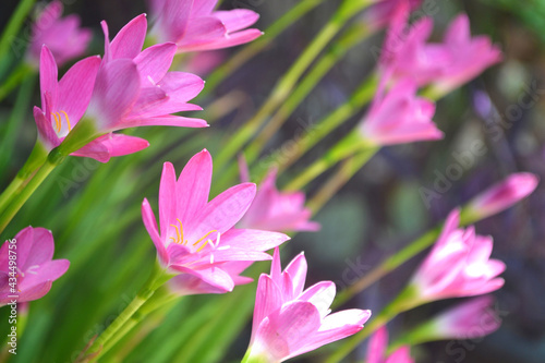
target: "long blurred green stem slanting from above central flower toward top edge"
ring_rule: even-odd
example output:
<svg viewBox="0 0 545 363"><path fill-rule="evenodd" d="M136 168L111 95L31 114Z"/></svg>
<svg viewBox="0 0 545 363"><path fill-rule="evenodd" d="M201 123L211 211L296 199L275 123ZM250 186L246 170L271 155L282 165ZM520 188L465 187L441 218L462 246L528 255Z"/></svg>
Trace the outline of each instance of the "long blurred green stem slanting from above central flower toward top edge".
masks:
<svg viewBox="0 0 545 363"><path fill-rule="evenodd" d="M342 7L341 7L342 8ZM341 16L342 14L342 16ZM355 14L353 14L355 15ZM280 78L270 93L267 101L262 106L257 113L245 123L234 135L231 135L229 142L221 149L216 165L223 167L234 155L244 146L244 144L255 134L261 125L267 120L267 117L289 96L294 85L314 61L318 53L326 47L331 38L342 28L349 19L347 13L337 11L316 38L306 47L303 53L298 58L290 70Z"/></svg>

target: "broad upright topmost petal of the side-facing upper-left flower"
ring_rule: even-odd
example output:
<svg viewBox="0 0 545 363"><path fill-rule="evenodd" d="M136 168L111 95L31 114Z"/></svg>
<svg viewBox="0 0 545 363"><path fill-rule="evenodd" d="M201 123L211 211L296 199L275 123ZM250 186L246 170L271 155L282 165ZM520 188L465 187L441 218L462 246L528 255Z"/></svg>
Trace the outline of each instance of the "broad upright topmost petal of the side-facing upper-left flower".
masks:
<svg viewBox="0 0 545 363"><path fill-rule="evenodd" d="M130 21L119 31L110 45L111 59L134 59L144 46L146 38L147 20L146 14L141 14Z"/></svg>

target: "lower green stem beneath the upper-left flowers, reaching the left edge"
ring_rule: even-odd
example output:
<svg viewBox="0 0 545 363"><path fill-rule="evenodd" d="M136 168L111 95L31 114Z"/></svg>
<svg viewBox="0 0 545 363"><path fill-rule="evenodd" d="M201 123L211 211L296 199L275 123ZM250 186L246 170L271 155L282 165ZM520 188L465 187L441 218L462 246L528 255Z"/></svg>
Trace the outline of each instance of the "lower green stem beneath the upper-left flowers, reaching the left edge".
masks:
<svg viewBox="0 0 545 363"><path fill-rule="evenodd" d="M49 173L64 160L64 156L53 152L49 154L47 160L39 168L36 174L32 177L31 181L21 191L21 193L19 193L19 195L13 198L12 203L5 208L5 210L2 211L2 215L0 216L0 233L3 232L5 227L8 227L13 217L15 217L21 207L36 191L36 189L44 182L47 176L49 176Z"/></svg>

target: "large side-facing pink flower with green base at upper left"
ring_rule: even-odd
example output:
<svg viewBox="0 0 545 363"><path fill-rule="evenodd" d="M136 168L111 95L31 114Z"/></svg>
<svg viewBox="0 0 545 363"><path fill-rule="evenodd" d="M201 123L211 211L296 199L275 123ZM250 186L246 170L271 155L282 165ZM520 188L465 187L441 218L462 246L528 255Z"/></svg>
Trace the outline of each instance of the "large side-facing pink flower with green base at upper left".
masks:
<svg viewBox="0 0 545 363"><path fill-rule="evenodd" d="M105 57L98 68L88 106L83 109L85 113L70 119L72 132L68 132L70 128L60 119L61 132L68 132L62 143L64 149L83 154L81 148L89 142L126 128L207 126L206 121L201 119L170 114L201 110L201 107L187 101L203 89L204 82L190 73L168 72L175 52L173 44L155 45L142 50L147 31L144 14L129 22L112 41L109 40L106 22L102 22L102 29ZM104 137L107 146L121 149L121 153L111 152L112 155L134 153L147 145L146 141L117 134ZM90 152L96 153L97 146L92 146Z"/></svg>

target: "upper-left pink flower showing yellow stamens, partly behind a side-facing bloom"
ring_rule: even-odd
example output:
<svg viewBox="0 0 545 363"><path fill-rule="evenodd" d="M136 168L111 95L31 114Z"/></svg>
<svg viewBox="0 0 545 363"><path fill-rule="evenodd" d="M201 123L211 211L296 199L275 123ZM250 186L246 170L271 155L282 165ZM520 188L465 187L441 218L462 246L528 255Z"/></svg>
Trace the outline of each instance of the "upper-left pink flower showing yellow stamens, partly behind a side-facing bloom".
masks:
<svg viewBox="0 0 545 363"><path fill-rule="evenodd" d="M85 58L70 68L58 81L53 55L46 46L41 48L41 109L34 107L34 119L38 126L38 140L47 152L59 146L82 119L90 100L99 65L99 57ZM106 162L112 156L135 153L147 146L145 140L110 133L88 143L72 155Z"/></svg>

